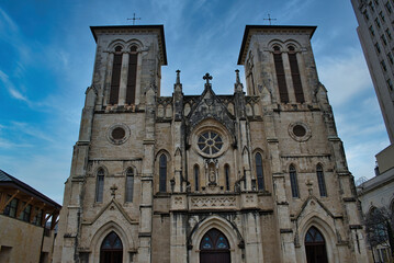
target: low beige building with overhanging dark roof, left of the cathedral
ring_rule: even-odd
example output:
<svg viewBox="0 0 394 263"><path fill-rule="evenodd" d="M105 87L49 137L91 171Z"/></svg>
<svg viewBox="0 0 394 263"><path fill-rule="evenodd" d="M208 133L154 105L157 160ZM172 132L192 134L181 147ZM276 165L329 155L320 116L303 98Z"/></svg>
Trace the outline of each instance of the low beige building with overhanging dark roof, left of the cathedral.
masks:
<svg viewBox="0 0 394 263"><path fill-rule="evenodd" d="M61 206L0 170L0 262L49 263Z"/></svg>

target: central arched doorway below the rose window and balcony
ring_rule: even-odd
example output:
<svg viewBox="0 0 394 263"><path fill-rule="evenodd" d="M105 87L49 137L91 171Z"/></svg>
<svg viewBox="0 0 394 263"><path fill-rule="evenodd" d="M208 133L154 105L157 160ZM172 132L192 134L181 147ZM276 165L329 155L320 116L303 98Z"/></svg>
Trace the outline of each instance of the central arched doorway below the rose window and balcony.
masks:
<svg viewBox="0 0 394 263"><path fill-rule="evenodd" d="M207 231L200 243L200 263L230 263L227 238L216 228Z"/></svg>

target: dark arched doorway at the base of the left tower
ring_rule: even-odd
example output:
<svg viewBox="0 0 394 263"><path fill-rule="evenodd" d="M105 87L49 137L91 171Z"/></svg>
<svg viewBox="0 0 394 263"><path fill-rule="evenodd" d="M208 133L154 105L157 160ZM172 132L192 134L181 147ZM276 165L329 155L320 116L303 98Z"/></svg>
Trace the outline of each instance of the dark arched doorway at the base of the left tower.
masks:
<svg viewBox="0 0 394 263"><path fill-rule="evenodd" d="M122 263L123 244L119 236L112 231L104 241L102 241L100 249L100 263Z"/></svg>

